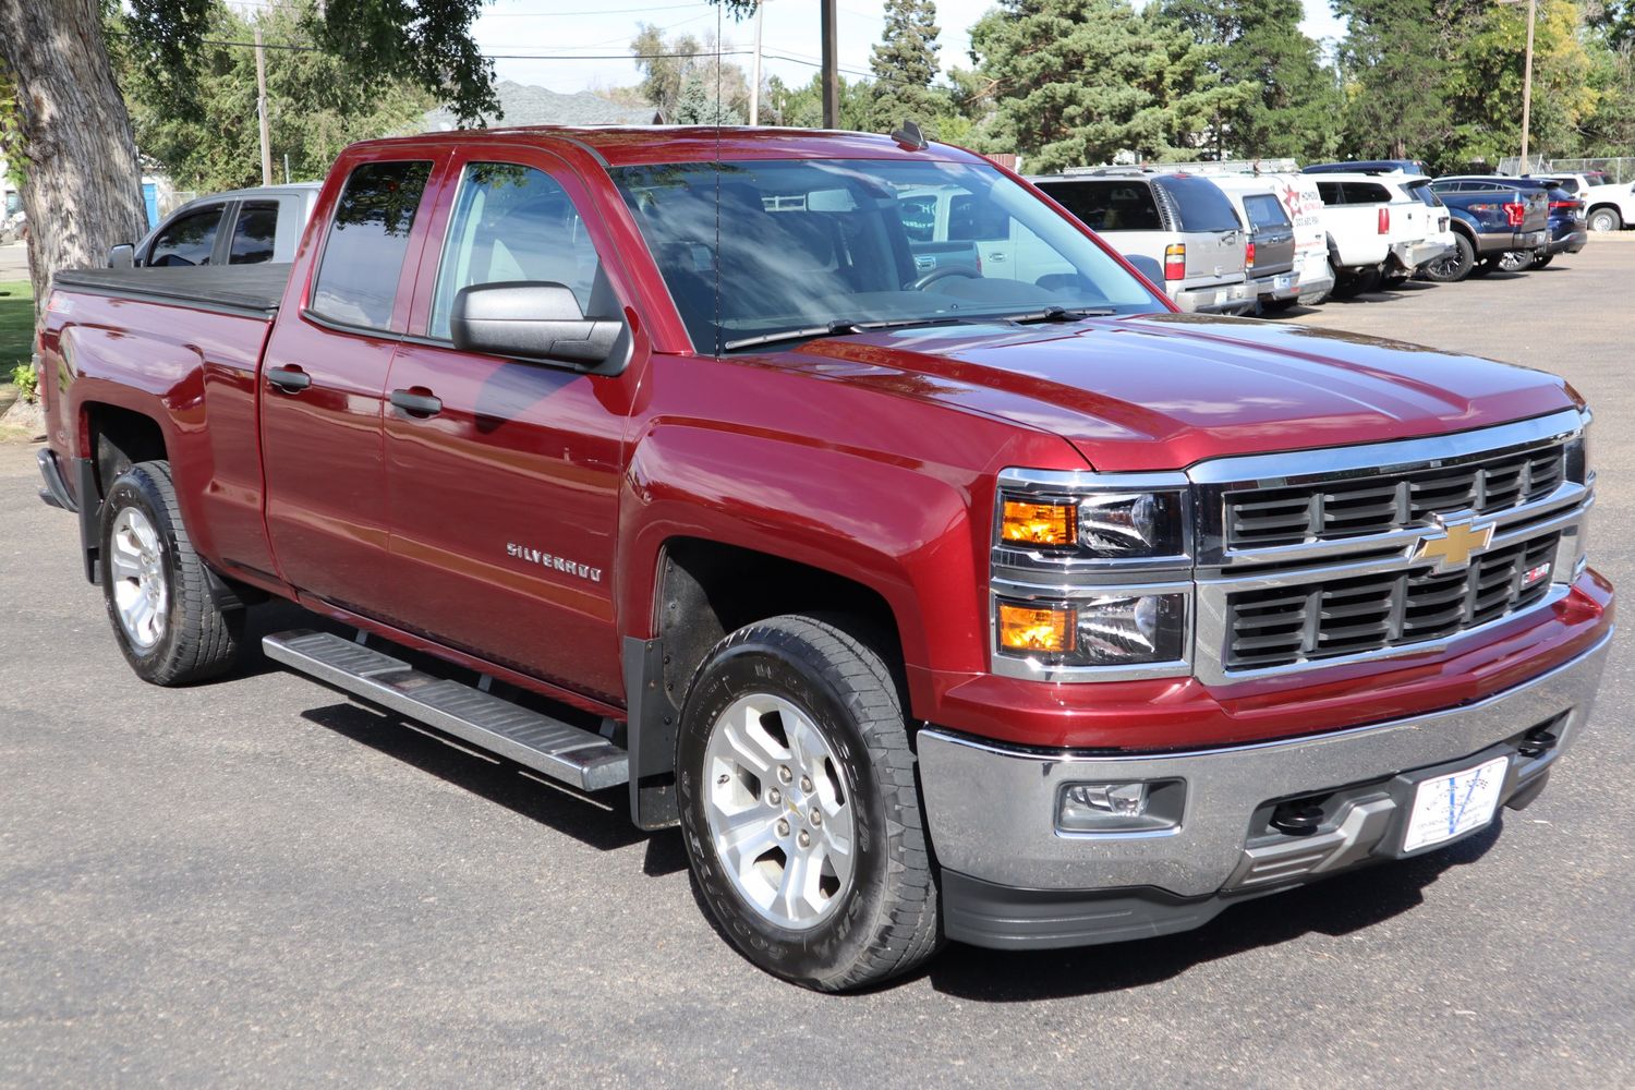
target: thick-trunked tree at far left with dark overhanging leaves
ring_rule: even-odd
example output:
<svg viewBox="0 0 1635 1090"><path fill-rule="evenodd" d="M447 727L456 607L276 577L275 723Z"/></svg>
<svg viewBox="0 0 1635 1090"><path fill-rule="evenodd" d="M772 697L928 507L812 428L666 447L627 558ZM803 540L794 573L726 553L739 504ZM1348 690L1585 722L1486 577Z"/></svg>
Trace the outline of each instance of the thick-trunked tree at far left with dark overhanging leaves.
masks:
<svg viewBox="0 0 1635 1090"><path fill-rule="evenodd" d="M360 98L384 80L446 96L463 119L497 113L494 69L471 38L482 0L325 0L301 7L306 33L335 57ZM213 0L108 5L110 29L136 64L175 88L193 78ZM16 88L8 141L23 163L36 307L51 276L101 265L108 247L147 222L131 118L114 80L103 0L0 0L0 60ZM72 49L59 42L75 42Z"/></svg>

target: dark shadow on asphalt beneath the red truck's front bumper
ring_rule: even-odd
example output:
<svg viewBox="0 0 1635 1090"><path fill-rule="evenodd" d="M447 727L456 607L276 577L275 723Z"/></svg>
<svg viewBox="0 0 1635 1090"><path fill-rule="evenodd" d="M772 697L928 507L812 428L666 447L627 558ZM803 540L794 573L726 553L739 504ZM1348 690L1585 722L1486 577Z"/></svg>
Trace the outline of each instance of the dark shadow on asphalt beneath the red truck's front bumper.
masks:
<svg viewBox="0 0 1635 1090"><path fill-rule="evenodd" d="M1169 981L1195 966L1313 931L1351 935L1418 907L1424 887L1442 871L1486 855L1501 827L1498 819L1445 851L1234 905L1184 935L1027 953L952 945L929 966L927 976L938 992L989 1003L1102 995Z"/></svg>

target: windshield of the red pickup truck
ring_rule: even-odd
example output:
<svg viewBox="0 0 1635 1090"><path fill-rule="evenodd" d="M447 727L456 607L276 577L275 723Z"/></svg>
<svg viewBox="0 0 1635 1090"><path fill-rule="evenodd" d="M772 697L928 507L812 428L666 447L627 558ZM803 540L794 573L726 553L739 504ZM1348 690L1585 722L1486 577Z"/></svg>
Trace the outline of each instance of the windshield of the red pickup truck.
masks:
<svg viewBox="0 0 1635 1090"><path fill-rule="evenodd" d="M1164 309L992 167L831 159L610 173L698 351L831 328Z"/></svg>

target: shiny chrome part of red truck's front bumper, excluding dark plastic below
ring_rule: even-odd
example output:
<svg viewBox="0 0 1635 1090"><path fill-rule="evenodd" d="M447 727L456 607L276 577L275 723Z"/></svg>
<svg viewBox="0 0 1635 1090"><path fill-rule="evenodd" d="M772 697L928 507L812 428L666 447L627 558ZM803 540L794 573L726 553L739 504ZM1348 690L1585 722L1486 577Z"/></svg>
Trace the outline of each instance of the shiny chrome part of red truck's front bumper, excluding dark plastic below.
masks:
<svg viewBox="0 0 1635 1090"><path fill-rule="evenodd" d="M1131 887L1177 899L1246 894L1401 855L1408 804L1383 786L1355 806L1336 807L1315 835L1251 837L1252 817L1270 801L1386 784L1506 745L1511 765L1499 797L1530 799L1522 793L1542 786L1583 730L1610 639L1609 632L1578 659L1478 703L1256 745L1125 757L1020 750L927 727L919 734L919 765L932 845L945 871L984 887L1084 897ZM1516 740L1543 724L1558 739L1553 748L1517 753ZM1135 780L1185 781L1179 829L1058 832L1064 784ZM950 935L961 936L958 928Z"/></svg>

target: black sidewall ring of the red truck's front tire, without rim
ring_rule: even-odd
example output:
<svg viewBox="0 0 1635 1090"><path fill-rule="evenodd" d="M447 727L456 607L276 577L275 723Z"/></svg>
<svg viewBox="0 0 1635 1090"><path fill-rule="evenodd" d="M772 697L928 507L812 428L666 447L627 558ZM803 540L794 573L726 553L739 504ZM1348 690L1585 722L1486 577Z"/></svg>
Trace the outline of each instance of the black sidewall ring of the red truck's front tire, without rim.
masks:
<svg viewBox="0 0 1635 1090"><path fill-rule="evenodd" d="M813 652L816 655L816 652ZM765 920L737 892L716 855L705 814L705 753L710 729L746 693L764 691L798 704L840 762L852 806L855 863L842 902L816 927L790 931ZM728 938L752 961L778 976L821 982L840 976L868 948L885 902L885 801L875 781L868 745L844 698L809 663L765 639L737 644L698 675L682 713L677 739L677 789L682 835L705 904Z"/></svg>

